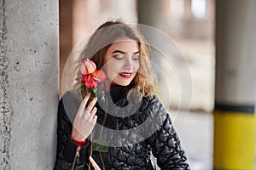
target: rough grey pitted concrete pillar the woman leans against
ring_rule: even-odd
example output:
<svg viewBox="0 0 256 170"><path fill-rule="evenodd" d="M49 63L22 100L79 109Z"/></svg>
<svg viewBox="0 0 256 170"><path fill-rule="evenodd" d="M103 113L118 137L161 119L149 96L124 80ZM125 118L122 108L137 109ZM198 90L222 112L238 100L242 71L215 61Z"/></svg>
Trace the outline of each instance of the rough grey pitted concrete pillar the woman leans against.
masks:
<svg viewBox="0 0 256 170"><path fill-rule="evenodd" d="M58 1L0 0L0 9L0 169L52 169Z"/></svg>

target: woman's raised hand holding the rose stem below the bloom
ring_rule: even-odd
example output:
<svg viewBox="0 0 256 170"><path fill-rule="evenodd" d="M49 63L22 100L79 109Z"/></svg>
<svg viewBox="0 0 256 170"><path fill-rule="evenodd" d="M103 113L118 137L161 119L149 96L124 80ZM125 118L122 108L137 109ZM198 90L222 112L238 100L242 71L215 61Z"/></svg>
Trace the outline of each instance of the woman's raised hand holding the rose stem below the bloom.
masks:
<svg viewBox="0 0 256 170"><path fill-rule="evenodd" d="M92 132L95 127L97 116L96 116L96 98L92 99L90 104L85 109L85 105L90 98L90 93L86 94L83 101L79 106L79 111L73 122L73 130L71 137L78 141L84 141ZM85 109L85 110L84 110Z"/></svg>

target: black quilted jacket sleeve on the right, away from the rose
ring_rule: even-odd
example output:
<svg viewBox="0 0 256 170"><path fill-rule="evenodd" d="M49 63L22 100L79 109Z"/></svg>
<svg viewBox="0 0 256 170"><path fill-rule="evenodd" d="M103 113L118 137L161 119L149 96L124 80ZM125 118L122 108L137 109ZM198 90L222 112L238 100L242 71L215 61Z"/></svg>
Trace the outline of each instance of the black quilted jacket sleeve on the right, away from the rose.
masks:
<svg viewBox="0 0 256 170"><path fill-rule="evenodd" d="M154 99L151 110L152 122L157 123L157 130L148 138L148 144L157 158L160 169L190 169L185 151L172 126L171 116L158 99Z"/></svg>

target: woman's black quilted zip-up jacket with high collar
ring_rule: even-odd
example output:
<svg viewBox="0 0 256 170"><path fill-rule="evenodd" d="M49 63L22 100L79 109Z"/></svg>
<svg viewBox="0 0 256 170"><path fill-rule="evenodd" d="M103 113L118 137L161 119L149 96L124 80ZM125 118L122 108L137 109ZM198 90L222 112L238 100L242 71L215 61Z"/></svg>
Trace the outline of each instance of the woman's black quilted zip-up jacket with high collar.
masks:
<svg viewBox="0 0 256 170"><path fill-rule="evenodd" d="M101 153L103 163L98 151L92 154L101 169L155 169L154 161L150 159L151 152L160 169L190 169L171 117L156 97L134 103L134 99L125 97L122 87L106 91L105 96L105 100L98 98L98 124L93 132L94 139L102 138L108 143L108 152ZM77 145L70 135L79 104L80 100L70 92L60 100L54 169L71 169ZM102 131L105 115L107 119ZM97 136L101 131L102 136ZM75 169L88 169L89 156L90 140L87 140L80 150Z"/></svg>

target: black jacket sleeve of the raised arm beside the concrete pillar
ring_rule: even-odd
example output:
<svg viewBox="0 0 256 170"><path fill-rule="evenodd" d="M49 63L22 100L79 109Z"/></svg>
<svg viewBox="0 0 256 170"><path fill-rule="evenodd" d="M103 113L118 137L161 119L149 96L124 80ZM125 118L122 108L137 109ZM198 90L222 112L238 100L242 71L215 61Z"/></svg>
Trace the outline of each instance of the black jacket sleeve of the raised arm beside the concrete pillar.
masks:
<svg viewBox="0 0 256 170"><path fill-rule="evenodd" d="M57 150L54 170L70 170L73 164L77 144L71 139L73 125L65 111L62 99L59 102L57 118ZM84 160L87 160L89 149L87 142L80 150L79 163L75 169L84 169Z"/></svg>

